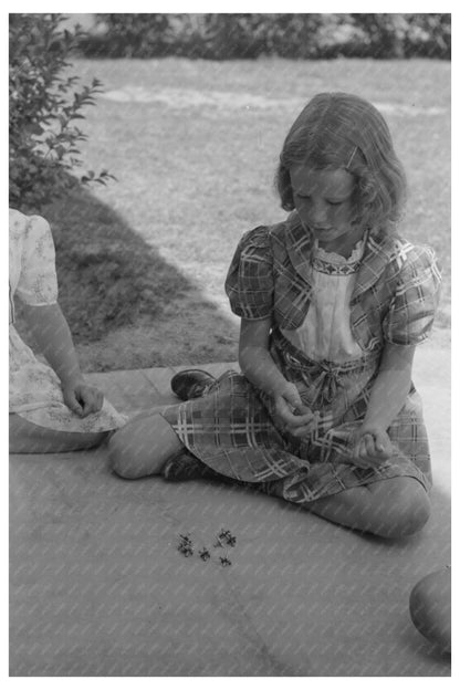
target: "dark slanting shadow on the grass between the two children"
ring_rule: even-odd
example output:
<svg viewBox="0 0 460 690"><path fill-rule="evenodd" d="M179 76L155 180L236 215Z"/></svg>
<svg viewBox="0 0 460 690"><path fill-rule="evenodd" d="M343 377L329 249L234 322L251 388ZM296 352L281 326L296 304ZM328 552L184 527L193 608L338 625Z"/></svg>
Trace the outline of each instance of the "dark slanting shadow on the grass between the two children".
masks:
<svg viewBox="0 0 460 690"><path fill-rule="evenodd" d="M41 213L51 223L59 301L84 370L236 359L236 324L123 216L85 189ZM18 325L29 339L20 312Z"/></svg>

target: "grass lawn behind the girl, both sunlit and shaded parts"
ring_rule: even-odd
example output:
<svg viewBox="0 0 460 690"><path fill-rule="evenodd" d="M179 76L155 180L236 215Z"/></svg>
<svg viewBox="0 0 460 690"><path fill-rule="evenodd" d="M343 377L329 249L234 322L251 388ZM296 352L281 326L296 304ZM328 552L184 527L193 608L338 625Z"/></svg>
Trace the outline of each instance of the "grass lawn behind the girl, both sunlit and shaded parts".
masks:
<svg viewBox="0 0 460 690"><path fill-rule="evenodd" d="M104 83L82 126L83 155L118 180L44 210L85 370L236 359L226 271L242 232L284 217L279 151L320 91L357 93L387 118L410 186L401 232L441 259L438 330L448 332L450 63L82 60L72 73Z"/></svg>

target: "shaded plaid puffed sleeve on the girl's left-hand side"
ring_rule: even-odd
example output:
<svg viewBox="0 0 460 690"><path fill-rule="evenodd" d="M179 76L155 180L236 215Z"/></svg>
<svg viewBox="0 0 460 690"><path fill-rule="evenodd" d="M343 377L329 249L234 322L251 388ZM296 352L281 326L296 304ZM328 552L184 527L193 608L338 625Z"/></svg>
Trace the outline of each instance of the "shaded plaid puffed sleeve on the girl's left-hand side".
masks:
<svg viewBox="0 0 460 690"><path fill-rule="evenodd" d="M255 228L241 238L227 274L226 292L237 316L257 321L271 315L273 255L268 228Z"/></svg>

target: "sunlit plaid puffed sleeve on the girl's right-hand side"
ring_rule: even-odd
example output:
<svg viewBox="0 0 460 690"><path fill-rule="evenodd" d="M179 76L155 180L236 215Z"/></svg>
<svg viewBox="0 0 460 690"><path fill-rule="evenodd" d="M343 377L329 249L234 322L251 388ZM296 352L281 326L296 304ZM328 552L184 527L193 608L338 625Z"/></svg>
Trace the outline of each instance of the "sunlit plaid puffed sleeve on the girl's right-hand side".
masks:
<svg viewBox="0 0 460 690"><path fill-rule="evenodd" d="M429 247L402 248L397 262L396 289L384 323L385 339L394 345L425 341L439 303L441 275Z"/></svg>

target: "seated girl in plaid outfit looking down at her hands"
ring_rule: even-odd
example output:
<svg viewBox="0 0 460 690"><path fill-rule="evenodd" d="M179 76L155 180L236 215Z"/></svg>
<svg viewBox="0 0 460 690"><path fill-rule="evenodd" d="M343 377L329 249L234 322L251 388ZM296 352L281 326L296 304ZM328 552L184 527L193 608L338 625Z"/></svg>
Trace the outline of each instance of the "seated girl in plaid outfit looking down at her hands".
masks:
<svg viewBox="0 0 460 690"><path fill-rule="evenodd" d="M201 468L352 529L411 534L431 481L411 366L440 275L431 249L397 234L406 179L385 119L358 96L316 95L276 184L290 215L243 234L226 281L241 373L201 374L200 397L182 388L182 404L115 433L113 467L180 478L188 463L184 477Z"/></svg>

